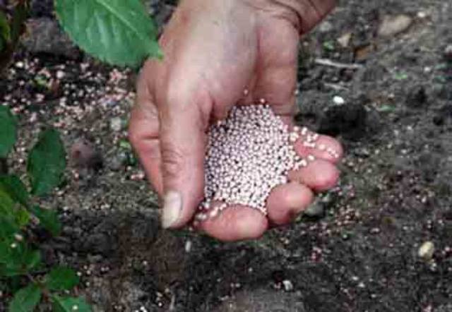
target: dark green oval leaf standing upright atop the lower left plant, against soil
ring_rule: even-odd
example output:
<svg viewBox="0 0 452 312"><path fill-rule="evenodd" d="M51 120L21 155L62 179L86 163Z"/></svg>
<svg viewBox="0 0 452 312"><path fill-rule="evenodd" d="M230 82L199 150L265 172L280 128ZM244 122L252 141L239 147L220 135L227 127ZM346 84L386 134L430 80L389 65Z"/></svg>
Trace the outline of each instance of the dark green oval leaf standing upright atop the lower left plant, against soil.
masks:
<svg viewBox="0 0 452 312"><path fill-rule="evenodd" d="M44 196L59 186L65 168L66 152L58 131L53 128L43 131L28 155L32 194Z"/></svg>

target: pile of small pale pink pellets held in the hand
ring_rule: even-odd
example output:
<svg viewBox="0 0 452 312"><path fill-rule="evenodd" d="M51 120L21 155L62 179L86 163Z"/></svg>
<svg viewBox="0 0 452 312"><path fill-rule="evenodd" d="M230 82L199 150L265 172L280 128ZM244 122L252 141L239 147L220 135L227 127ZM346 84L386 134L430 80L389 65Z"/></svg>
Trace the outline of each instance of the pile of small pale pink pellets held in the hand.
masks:
<svg viewBox="0 0 452 312"><path fill-rule="evenodd" d="M318 145L307 128L292 129L268 104L236 106L227 119L210 126L205 160L204 200L195 222L216 217L230 205L244 205L267 214L266 199L287 174L306 167L313 155L299 157L297 140L307 148L337 153Z"/></svg>

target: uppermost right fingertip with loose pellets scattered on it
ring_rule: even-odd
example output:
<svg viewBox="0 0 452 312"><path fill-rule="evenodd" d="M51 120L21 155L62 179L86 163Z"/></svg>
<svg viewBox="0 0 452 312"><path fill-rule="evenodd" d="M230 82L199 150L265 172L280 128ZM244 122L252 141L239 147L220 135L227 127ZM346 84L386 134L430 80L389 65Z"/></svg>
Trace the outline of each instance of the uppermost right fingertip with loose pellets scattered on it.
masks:
<svg viewBox="0 0 452 312"><path fill-rule="evenodd" d="M310 133L310 135L315 135L315 133ZM331 138L331 136L316 135L315 142L307 142L306 136L302 136L294 143L294 148L297 154L303 158L307 158L308 155L313 155L314 157L321 160L328 160L334 164L338 163L343 157L342 145Z"/></svg>

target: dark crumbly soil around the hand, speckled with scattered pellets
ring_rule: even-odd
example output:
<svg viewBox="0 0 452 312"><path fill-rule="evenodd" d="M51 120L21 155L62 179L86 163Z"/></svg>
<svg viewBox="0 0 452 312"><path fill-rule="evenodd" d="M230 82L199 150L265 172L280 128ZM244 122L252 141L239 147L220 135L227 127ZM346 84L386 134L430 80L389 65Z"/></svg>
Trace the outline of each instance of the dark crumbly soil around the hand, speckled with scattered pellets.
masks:
<svg viewBox="0 0 452 312"><path fill-rule="evenodd" d="M170 6L150 2L162 23ZM49 15L45 3L36 17ZM398 34L379 35L398 14L409 27L399 18ZM24 167L48 124L68 149L83 139L99 155L88 169L73 161L44 200L65 224L42 236L47 262L76 267L96 311L452 311L451 25L450 1L350 0L304 38L297 120L343 142L343 176L316 216L238 244L158 228L125 140L133 71L29 44L0 80L0 103L22 126L11 165ZM417 256L425 241L430 261Z"/></svg>

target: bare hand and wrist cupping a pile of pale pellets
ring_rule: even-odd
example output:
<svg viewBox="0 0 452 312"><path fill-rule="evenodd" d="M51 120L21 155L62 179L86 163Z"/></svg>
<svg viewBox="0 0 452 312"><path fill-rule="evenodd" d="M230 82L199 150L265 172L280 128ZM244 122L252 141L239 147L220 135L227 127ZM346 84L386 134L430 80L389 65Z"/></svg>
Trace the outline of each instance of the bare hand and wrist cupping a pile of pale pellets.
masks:
<svg viewBox="0 0 452 312"><path fill-rule="evenodd" d="M142 68L129 127L131 143L163 199L163 227L183 227L203 198L211 122L225 118L234 104L261 98L292 122L299 36L333 6L333 0L181 1L160 37L164 59L148 60ZM342 153L333 138L320 136L319 142ZM337 160L326 152L314 155L316 161L291 172L290 183L270 193L267 217L252 208L228 208L201 229L237 241L287 224L307 208L314 191L338 179Z"/></svg>

